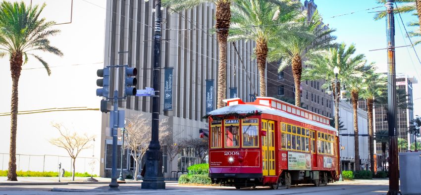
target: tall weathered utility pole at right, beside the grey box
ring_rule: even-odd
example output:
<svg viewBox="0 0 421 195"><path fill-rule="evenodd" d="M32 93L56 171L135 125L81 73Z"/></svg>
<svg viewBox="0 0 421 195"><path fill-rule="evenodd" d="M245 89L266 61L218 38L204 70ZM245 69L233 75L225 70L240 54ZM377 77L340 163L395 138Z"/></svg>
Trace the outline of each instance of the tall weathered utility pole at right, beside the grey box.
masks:
<svg viewBox="0 0 421 195"><path fill-rule="evenodd" d="M398 139L396 137L396 72L395 72L395 20L393 3L386 1L386 36L387 36L387 124L389 129L389 192L387 195L401 194L399 192Z"/></svg>

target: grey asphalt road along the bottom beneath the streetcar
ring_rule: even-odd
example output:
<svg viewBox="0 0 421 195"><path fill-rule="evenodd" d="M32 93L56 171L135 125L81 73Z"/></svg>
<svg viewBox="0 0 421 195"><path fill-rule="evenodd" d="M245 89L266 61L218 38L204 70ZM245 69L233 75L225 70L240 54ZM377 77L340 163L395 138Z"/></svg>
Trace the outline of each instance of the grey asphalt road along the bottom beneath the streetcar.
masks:
<svg viewBox="0 0 421 195"><path fill-rule="evenodd" d="M0 186L0 195L385 195L388 180L336 182L327 186L293 186L291 189L241 189L233 187L197 187L167 184L165 190L141 190L139 184L122 184L120 191L108 191L107 184Z"/></svg>

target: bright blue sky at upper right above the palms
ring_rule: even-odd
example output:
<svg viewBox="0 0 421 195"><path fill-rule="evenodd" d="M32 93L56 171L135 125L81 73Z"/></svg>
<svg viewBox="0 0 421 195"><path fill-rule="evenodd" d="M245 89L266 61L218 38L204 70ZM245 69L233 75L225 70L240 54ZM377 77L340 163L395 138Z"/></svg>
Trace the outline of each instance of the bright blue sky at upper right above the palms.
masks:
<svg viewBox="0 0 421 195"><path fill-rule="evenodd" d="M302 0L304 2L304 0ZM345 42L347 45L355 44L357 52L364 53L368 62L375 62L379 72L387 72L386 55L386 19L374 21L375 13L372 11L385 10L384 6L375 9L365 10L380 6L376 0L314 0L317 9L323 16L323 22L329 24L330 28L336 29L333 34L337 42ZM398 4L399 6L399 4ZM396 8L396 7L395 7ZM353 14L342 15L355 12ZM342 15L342 16L338 16ZM336 16L336 17L333 17ZM404 24L416 21L418 18L411 14L401 14ZM408 31L414 28L406 27ZM395 46L411 45L406 38L405 30L399 15L395 15ZM412 38L413 40L415 38ZM383 49L369 51L372 49ZM421 57L421 45L415 50ZM396 72L415 76L421 82L421 63L417 59L412 47L396 48ZM414 91L414 115L421 116L421 84L413 85ZM417 99L419 98L419 99Z"/></svg>

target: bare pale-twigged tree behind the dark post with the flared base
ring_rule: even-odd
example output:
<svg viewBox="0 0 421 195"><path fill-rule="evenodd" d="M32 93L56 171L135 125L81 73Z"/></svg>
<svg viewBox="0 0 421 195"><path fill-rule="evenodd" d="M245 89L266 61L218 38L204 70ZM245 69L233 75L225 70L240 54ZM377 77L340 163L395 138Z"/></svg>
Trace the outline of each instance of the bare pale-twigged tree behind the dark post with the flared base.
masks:
<svg viewBox="0 0 421 195"><path fill-rule="evenodd" d="M142 157L148 149L151 142L151 120L144 117L143 114L138 114L134 118L127 118L128 124L126 127L127 139L124 145L130 149L130 155L135 161L134 179L137 180L139 174L139 164L142 162ZM159 121L159 142L170 135L169 126L167 125L168 118L163 118Z"/></svg>

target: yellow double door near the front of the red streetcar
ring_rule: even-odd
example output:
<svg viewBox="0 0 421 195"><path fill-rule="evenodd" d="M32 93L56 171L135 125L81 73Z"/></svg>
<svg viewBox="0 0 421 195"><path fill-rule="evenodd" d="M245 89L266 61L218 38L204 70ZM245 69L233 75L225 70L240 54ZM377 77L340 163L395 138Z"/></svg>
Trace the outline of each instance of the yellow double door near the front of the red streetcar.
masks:
<svg viewBox="0 0 421 195"><path fill-rule="evenodd" d="M263 176L275 175L275 123L271 120L262 119L262 165Z"/></svg>

